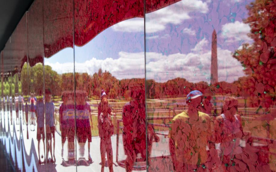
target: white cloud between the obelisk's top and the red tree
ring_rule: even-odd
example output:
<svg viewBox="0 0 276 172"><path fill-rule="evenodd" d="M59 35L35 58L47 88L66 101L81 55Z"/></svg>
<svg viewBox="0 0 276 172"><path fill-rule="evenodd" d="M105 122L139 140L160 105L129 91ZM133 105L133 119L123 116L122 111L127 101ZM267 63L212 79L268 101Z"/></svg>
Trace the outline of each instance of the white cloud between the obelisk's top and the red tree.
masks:
<svg viewBox="0 0 276 172"><path fill-rule="evenodd" d="M222 26L222 37L227 39L227 42L240 42L249 43L252 41L247 36L250 33L250 26L241 21L235 21L234 23L226 23Z"/></svg>

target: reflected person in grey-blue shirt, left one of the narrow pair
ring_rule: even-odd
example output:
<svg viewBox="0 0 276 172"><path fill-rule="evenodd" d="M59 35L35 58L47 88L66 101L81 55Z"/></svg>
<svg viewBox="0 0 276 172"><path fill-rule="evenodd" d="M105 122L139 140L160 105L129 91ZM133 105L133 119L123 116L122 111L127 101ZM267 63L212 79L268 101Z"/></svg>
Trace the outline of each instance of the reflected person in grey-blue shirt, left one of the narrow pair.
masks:
<svg viewBox="0 0 276 172"><path fill-rule="evenodd" d="M45 156L45 130L44 130L44 102L42 98L42 93L39 94L39 99L36 102L36 117L37 117L37 141L38 141L38 154L39 154L39 164L41 164L40 160L40 140L42 135L43 141L43 150ZM42 156L43 157L43 156Z"/></svg>

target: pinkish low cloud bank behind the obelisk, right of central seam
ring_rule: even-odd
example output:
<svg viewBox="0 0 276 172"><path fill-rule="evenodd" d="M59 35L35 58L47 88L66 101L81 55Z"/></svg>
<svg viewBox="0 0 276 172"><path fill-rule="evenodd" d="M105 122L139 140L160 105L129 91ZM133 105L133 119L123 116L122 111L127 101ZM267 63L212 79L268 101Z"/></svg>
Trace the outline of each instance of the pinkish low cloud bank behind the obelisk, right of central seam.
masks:
<svg viewBox="0 0 276 172"><path fill-rule="evenodd" d="M211 51L204 53L162 55L146 53L147 78L164 82L173 78L186 78L190 82L210 82ZM233 82L244 76L241 63L232 57L232 52L217 48L218 80Z"/></svg>

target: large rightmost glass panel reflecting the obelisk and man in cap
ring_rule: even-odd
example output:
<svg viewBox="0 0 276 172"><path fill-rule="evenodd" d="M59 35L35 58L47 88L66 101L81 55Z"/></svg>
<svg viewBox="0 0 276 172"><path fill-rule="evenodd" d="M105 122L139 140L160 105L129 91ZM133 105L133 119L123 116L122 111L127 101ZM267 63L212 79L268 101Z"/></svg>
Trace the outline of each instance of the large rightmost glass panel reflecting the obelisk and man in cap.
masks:
<svg viewBox="0 0 276 172"><path fill-rule="evenodd" d="M147 5L149 171L275 170L274 3Z"/></svg>

